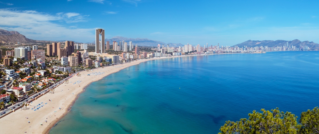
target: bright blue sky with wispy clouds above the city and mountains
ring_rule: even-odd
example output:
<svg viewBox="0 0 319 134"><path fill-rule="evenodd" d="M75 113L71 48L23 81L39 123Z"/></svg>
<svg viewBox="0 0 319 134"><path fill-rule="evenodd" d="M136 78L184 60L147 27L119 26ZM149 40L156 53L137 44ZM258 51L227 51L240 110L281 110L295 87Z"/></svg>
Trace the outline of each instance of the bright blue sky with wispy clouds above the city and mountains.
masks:
<svg viewBox="0 0 319 134"><path fill-rule="evenodd" d="M227 45L247 40L319 43L318 0L1 0L0 29L35 40L148 38ZM133 43L134 44L134 43Z"/></svg>

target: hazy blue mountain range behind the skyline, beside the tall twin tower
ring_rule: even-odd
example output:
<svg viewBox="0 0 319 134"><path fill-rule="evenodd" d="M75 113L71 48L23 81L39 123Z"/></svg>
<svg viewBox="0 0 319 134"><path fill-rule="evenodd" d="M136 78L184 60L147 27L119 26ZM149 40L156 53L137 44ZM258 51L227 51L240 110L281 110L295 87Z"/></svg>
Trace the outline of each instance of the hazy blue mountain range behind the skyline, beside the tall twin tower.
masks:
<svg viewBox="0 0 319 134"><path fill-rule="evenodd" d="M111 39L105 39L105 42L109 41L110 44L113 44L113 41L116 42L121 42L121 41L125 41L128 43L131 41L133 43L133 45L138 45L138 46L155 46L157 47L157 44L164 44L167 45L169 44L170 47L178 47L178 46L183 46L182 44L176 44L176 43L164 43L164 42L160 42L160 41L154 41L154 40L150 40L148 38L126 38L126 37L113 37ZM92 44L95 44L95 41L91 42Z"/></svg>

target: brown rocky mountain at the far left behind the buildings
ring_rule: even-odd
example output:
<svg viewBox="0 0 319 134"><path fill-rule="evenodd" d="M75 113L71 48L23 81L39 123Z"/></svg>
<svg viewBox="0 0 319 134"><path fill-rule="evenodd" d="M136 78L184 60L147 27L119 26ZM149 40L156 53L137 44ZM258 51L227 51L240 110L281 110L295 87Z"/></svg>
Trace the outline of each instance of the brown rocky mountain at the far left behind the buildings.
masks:
<svg viewBox="0 0 319 134"><path fill-rule="evenodd" d="M0 42L5 43L17 43L19 40L19 43L35 43L35 40L28 39L24 35L20 34L17 31L7 31L0 29Z"/></svg>

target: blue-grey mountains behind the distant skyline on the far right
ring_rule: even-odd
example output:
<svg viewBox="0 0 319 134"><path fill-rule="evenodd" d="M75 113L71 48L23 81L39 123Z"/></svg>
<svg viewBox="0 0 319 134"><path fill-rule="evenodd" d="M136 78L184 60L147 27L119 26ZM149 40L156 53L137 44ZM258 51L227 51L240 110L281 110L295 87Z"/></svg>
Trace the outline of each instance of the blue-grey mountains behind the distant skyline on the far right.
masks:
<svg viewBox="0 0 319 134"><path fill-rule="evenodd" d="M259 41L259 40L248 40L245 41L241 44L237 44L236 46L238 47L256 47L256 46L268 46L268 47L276 47L276 46L283 46L288 42L288 45L293 45L296 47L299 46L308 46L310 48L310 50L319 50L319 44L316 44L314 42L309 42L309 41L303 41L301 42L300 40L292 40L292 41L285 41L285 40L263 40L263 41Z"/></svg>

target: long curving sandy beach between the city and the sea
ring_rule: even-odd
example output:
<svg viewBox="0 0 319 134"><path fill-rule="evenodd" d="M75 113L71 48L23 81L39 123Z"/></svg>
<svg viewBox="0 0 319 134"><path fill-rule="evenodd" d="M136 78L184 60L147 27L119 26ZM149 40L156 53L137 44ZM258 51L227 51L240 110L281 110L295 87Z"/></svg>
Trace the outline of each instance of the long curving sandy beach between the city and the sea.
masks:
<svg viewBox="0 0 319 134"><path fill-rule="evenodd" d="M47 93L31 102L28 106L29 109L19 109L1 118L1 133L48 133L48 131L64 115L66 115L68 111L70 111L71 106L76 101L78 95L82 93L85 90L85 87L90 83L98 81L103 77L108 76L109 74L118 72L119 70L132 65L140 64L142 62L150 60L174 57L158 57L151 59L134 60L130 63L118 64L89 71L81 71L81 75L71 77L68 84L61 84L56 87L53 94ZM90 74L90 76L88 74ZM35 109L39 107L40 108L34 111L34 109L32 109L34 107Z"/></svg>

